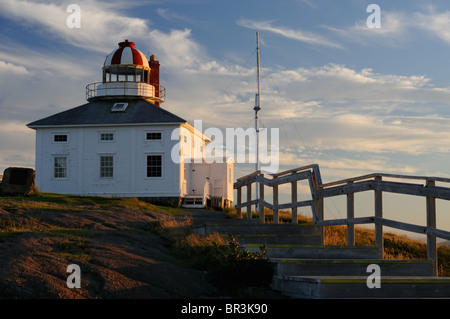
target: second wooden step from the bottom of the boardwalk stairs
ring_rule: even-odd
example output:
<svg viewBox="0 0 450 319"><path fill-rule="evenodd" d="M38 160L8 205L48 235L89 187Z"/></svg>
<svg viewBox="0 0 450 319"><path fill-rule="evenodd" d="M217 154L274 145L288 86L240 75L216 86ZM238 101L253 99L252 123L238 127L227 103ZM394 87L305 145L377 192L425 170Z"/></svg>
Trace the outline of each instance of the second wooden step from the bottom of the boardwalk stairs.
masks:
<svg viewBox="0 0 450 319"><path fill-rule="evenodd" d="M281 276L366 276L369 265L380 267L381 276L433 276L431 260L391 259L271 259Z"/></svg>

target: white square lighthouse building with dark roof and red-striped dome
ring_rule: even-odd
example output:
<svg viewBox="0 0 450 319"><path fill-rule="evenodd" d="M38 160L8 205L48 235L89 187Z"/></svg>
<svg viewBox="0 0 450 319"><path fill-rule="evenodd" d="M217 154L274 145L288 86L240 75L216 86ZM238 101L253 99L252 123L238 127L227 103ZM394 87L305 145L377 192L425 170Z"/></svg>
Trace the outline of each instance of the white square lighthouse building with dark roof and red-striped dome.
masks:
<svg viewBox="0 0 450 319"><path fill-rule="evenodd" d="M148 60L133 42L120 42L105 59L102 81L87 85L86 99L27 125L36 130L40 191L231 205L233 162L207 163L210 139L160 106L165 88L154 55Z"/></svg>

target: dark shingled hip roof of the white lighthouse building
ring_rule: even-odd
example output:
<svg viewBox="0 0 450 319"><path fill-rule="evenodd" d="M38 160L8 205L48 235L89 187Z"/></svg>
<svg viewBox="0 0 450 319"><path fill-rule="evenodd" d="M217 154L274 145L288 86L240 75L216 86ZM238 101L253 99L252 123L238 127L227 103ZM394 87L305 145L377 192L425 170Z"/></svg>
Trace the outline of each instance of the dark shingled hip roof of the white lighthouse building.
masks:
<svg viewBox="0 0 450 319"><path fill-rule="evenodd" d="M114 103L125 102L123 112L111 111ZM133 125L133 124L183 124L187 121L144 99L99 99L31 122L28 127L36 129L51 126L86 125Z"/></svg>

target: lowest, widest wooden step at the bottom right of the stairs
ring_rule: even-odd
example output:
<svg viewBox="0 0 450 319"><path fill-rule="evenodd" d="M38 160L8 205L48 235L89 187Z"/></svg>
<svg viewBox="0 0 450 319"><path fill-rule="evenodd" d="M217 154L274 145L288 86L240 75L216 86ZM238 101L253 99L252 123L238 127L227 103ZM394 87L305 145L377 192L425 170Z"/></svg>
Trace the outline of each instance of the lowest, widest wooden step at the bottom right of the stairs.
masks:
<svg viewBox="0 0 450 319"><path fill-rule="evenodd" d="M272 288L292 298L450 298L450 277L381 276L369 288L367 276L274 276Z"/></svg>

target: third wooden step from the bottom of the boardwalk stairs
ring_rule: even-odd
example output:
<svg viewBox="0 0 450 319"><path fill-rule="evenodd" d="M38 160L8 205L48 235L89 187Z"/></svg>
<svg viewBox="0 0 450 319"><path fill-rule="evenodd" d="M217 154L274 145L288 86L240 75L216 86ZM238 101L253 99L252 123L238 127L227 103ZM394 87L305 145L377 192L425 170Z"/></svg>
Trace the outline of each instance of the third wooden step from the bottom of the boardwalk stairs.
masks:
<svg viewBox="0 0 450 319"><path fill-rule="evenodd" d="M259 251L258 245L248 244L249 251ZM377 259L376 246L319 246L319 245L267 245L269 258L306 259Z"/></svg>

